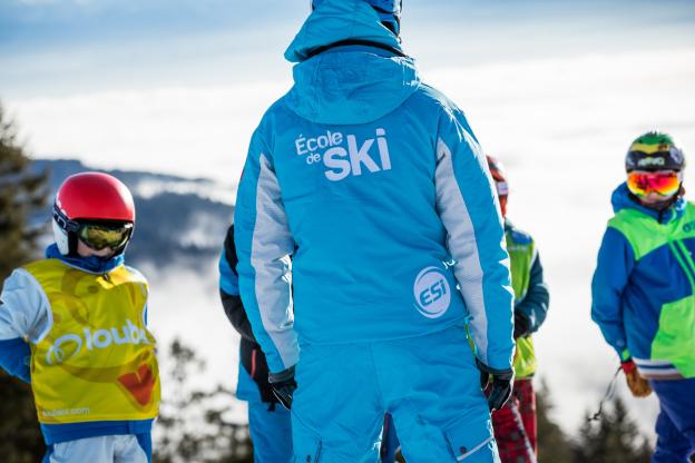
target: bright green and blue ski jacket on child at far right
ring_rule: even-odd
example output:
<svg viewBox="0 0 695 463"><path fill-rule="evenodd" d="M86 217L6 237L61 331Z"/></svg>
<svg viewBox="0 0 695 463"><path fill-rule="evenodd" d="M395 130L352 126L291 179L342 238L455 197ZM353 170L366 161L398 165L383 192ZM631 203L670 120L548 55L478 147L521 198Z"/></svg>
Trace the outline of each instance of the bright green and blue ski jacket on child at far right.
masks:
<svg viewBox="0 0 695 463"><path fill-rule="evenodd" d="M648 378L695 377L695 205L656 211L613 194L591 283L591 318L621 361Z"/></svg>

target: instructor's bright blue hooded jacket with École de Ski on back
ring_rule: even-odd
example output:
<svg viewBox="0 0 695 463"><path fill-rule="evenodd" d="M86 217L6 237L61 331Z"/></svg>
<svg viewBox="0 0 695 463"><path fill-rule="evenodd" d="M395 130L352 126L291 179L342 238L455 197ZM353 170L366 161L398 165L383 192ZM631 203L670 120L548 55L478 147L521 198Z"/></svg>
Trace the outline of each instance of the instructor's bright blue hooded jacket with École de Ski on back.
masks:
<svg viewBox="0 0 695 463"><path fill-rule="evenodd" d="M510 368L502 218L463 112L362 0L323 2L285 57L294 86L253 134L235 210L239 290L271 372L302 343L464 323L479 359Z"/></svg>

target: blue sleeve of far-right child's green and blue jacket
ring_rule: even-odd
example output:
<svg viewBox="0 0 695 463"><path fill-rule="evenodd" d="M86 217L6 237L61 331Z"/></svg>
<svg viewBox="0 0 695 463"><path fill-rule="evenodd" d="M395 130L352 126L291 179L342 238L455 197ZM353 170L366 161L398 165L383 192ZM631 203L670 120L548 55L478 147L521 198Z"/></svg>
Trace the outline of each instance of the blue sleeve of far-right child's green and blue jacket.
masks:
<svg viewBox="0 0 695 463"><path fill-rule="evenodd" d="M591 319L598 324L604 338L618 353L620 359L630 357L623 326L620 299L633 268L635 254L627 238L608 227L591 280Z"/></svg>

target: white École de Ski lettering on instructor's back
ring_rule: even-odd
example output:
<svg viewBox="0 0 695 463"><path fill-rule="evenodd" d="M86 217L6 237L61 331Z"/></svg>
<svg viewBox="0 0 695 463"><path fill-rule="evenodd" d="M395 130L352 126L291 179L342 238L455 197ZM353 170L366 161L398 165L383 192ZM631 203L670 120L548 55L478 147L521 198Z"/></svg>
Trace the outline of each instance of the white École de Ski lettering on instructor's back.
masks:
<svg viewBox="0 0 695 463"><path fill-rule="evenodd" d="M375 138L369 138L359 144L354 135L343 136L341 132L329 130L316 138L305 138L300 135L294 140L294 147L297 156L306 156L306 164L311 166L323 161L326 168L325 177L331 181L340 181L350 175L361 176L363 169L370 173L391 170L386 131L378 128L375 135ZM379 151L378 158L370 152L374 141ZM343 146L345 144L346 147ZM323 150L323 154L320 150Z"/></svg>

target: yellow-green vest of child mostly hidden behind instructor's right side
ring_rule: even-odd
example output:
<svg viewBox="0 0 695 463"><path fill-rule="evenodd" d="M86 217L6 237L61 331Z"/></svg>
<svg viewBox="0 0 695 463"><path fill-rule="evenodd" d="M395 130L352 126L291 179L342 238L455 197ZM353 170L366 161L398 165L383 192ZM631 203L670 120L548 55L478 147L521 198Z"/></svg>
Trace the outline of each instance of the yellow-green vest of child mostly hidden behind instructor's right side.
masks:
<svg viewBox="0 0 695 463"><path fill-rule="evenodd" d="M515 304L523 299L528 292L531 265L534 264L534 242L515 243L513 234L507 232L507 252L511 267L511 287L515 290ZM536 353L531 336L519 337L513 357L515 377L522 380L536 373Z"/></svg>

